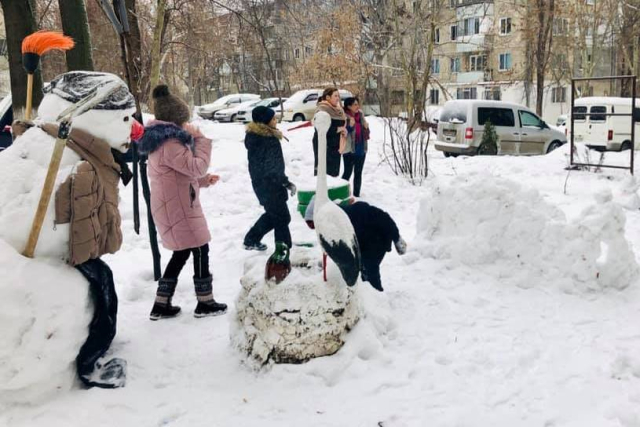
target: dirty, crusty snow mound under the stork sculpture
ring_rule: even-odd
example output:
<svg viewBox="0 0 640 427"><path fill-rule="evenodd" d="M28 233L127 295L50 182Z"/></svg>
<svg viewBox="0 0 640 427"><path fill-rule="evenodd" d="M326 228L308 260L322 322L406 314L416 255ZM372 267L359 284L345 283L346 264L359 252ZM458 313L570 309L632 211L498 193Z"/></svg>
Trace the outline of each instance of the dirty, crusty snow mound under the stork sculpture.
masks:
<svg viewBox="0 0 640 427"><path fill-rule="evenodd" d="M277 285L264 280L266 258L245 263L231 341L257 366L334 354L360 318L355 292L337 271L325 283L310 253L292 253L292 272Z"/></svg>

